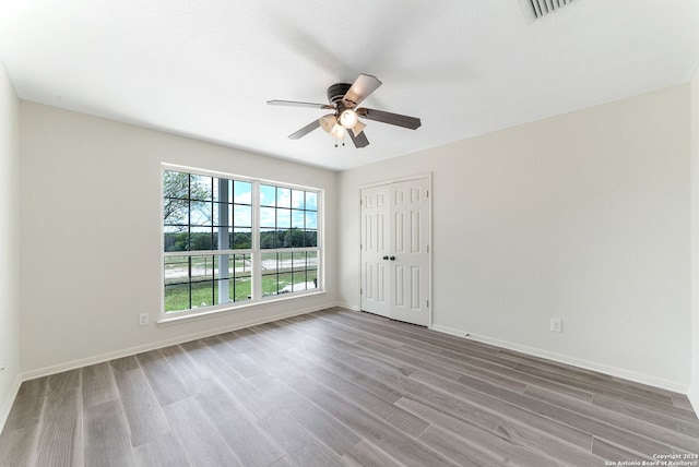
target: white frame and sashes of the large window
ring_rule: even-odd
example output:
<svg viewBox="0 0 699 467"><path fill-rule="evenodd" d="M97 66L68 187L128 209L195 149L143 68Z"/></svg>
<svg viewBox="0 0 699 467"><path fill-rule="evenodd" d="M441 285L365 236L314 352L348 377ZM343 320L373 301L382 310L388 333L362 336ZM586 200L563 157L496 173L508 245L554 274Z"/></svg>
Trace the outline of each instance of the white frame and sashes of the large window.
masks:
<svg viewBox="0 0 699 467"><path fill-rule="evenodd" d="M237 180L241 182L248 182L252 184L252 193L251 193L251 205L252 205L252 226L251 226L251 248L250 249L227 249L227 250L188 250L188 251L174 251L166 252L165 251L165 219L162 207L163 202L163 192L164 192L164 173L166 170L187 172L191 175L201 175L205 177L217 177L228 180ZM304 190L306 192L313 192L317 195L317 246L316 247L301 247L301 248L275 248L275 249L262 249L260 247L260 185L273 185L277 188L286 188L292 190ZM324 294L324 190L317 187L307 187L300 184L293 184L281 182L276 180L269 179L260 179L260 178L251 178L245 177L234 173L227 173L216 170L208 170L196 167L180 166L174 164L161 164L161 190L159 190L159 199L161 199L161 215L159 215L159 224L161 224L161 319L158 320L158 324L167 324L171 322L181 321L182 319L193 318L193 316L205 316L210 314L217 314L226 311L235 311L241 309L248 309L251 307L259 306L261 303L270 303L275 301L283 300L294 300L308 296ZM316 288L300 291L292 291L283 295L275 296L262 296L262 273L261 273L261 260L262 254L265 253L295 253L295 252L307 252L315 251L317 253L317 265L316 265L316 277L317 284ZM202 308L191 308L179 311L165 311L165 259L167 256L198 256L198 255L232 255L232 254L249 254L251 259L251 299L237 301L237 302L228 302L221 304L213 304Z"/></svg>

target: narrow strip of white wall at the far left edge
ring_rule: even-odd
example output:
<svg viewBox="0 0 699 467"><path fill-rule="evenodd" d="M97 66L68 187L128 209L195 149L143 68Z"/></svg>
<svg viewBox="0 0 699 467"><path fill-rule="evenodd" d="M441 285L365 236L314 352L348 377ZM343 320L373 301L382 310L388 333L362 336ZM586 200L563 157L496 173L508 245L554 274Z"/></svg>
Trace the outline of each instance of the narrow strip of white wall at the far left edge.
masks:
<svg viewBox="0 0 699 467"><path fill-rule="evenodd" d="M0 62L0 430L20 387L20 144L17 98Z"/></svg>

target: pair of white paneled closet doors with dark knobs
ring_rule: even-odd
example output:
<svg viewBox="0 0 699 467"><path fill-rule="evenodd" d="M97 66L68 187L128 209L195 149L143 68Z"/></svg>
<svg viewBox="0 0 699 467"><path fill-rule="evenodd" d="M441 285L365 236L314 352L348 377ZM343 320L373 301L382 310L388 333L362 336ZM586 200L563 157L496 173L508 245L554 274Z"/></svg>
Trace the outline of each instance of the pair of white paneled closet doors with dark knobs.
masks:
<svg viewBox="0 0 699 467"><path fill-rule="evenodd" d="M429 324L428 189L417 179L362 191L363 310Z"/></svg>

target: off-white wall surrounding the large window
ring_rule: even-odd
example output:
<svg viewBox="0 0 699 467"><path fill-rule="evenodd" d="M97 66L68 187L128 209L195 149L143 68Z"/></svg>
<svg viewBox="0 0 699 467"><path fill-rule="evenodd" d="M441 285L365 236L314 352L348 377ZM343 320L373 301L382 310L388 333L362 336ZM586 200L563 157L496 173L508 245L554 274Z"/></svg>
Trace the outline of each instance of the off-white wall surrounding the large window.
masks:
<svg viewBox="0 0 699 467"><path fill-rule="evenodd" d="M26 101L20 139L25 376L335 303L335 172ZM324 189L328 294L153 324L163 161Z"/></svg>

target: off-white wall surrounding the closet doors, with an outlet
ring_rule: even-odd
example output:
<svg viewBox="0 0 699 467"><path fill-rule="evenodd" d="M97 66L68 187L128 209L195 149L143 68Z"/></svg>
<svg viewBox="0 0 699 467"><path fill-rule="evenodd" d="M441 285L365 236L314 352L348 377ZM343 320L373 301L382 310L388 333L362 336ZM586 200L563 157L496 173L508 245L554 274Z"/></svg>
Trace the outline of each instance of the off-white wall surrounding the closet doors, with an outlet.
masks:
<svg viewBox="0 0 699 467"><path fill-rule="evenodd" d="M436 328L687 391L688 85L341 173L342 302L359 187L427 171Z"/></svg>

